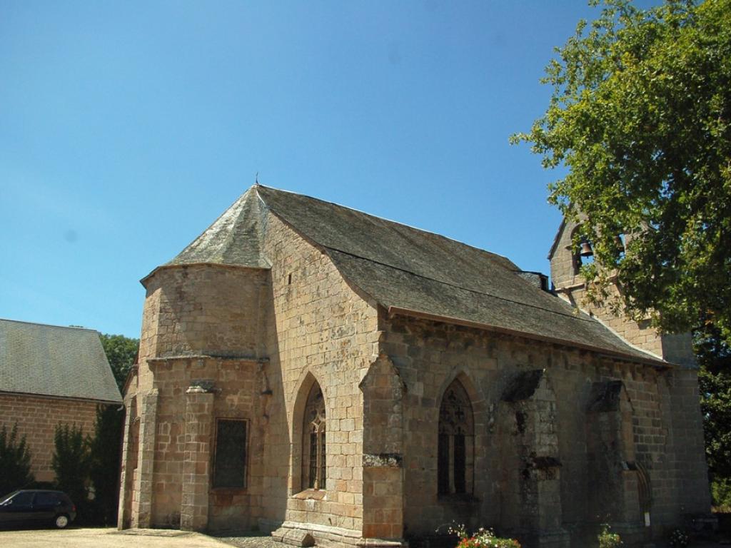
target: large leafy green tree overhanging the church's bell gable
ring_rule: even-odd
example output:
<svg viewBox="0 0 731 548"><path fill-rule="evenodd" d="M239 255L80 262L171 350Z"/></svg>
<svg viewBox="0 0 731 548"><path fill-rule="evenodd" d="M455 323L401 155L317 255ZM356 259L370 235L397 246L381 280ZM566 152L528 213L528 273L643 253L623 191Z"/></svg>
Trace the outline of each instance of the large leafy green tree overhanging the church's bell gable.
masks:
<svg viewBox="0 0 731 548"><path fill-rule="evenodd" d="M566 168L549 201L583 220L589 298L730 341L731 0L607 0L556 53L548 110L511 139Z"/></svg>

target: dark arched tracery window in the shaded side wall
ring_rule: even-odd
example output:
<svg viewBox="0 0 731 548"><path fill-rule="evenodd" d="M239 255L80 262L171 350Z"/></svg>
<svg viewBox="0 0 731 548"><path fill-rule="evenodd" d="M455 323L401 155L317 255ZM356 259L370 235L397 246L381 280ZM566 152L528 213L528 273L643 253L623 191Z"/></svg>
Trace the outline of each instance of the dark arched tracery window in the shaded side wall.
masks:
<svg viewBox="0 0 731 548"><path fill-rule="evenodd" d="M472 492L474 419L469 396L455 379L444 391L439 408L437 480L439 495Z"/></svg>

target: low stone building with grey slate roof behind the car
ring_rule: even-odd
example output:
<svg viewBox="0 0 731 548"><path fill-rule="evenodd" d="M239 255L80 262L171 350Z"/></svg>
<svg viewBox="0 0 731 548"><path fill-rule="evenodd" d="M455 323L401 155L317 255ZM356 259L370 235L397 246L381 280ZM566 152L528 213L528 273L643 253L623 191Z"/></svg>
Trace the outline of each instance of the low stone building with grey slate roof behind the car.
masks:
<svg viewBox="0 0 731 548"><path fill-rule="evenodd" d="M54 479L58 425L93 433L96 406L121 402L98 332L0 319L0 427L18 425L38 482Z"/></svg>

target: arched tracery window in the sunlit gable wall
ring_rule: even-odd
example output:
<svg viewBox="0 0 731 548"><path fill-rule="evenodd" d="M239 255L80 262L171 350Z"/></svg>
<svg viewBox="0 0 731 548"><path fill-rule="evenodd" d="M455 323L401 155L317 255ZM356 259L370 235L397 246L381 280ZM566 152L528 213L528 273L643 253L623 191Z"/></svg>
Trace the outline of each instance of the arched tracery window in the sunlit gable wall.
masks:
<svg viewBox="0 0 731 548"><path fill-rule="evenodd" d="M325 398L317 382L307 397L302 432L303 489L325 489Z"/></svg>

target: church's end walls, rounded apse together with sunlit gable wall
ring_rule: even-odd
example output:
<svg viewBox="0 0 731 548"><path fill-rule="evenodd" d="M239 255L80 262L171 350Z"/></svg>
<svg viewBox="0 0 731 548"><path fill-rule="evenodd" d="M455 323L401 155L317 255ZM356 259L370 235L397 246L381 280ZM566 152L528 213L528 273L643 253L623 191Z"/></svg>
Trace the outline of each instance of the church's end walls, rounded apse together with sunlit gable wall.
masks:
<svg viewBox="0 0 731 548"><path fill-rule="evenodd" d="M137 385L128 391L128 406L140 411L128 427L122 526L306 524L323 543L362 537L359 383L377 356L376 309L327 255L276 216L268 224L270 271L174 266L145 279ZM327 408L322 492L303 489L298 405L308 378ZM210 482L216 418L249 422L244 490L198 487Z"/></svg>

